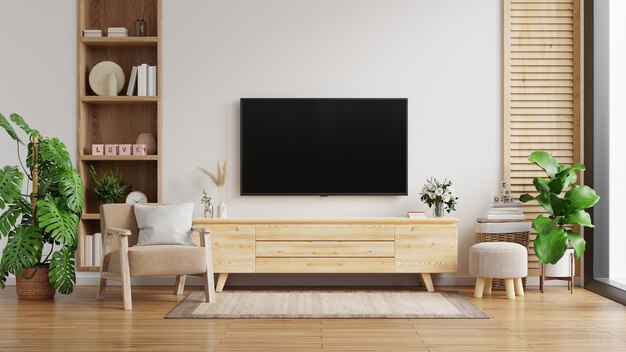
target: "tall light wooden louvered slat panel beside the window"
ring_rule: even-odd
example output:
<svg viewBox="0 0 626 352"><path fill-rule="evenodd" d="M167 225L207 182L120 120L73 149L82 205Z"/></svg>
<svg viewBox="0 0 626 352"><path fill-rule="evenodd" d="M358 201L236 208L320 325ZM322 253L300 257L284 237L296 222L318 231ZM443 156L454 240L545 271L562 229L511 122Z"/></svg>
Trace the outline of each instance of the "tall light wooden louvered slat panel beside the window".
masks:
<svg viewBox="0 0 626 352"><path fill-rule="evenodd" d="M514 197L536 193L545 173L528 161L545 150L580 161L579 0L503 0L503 175ZM524 205L533 219L544 213ZM529 276L539 275L531 236Z"/></svg>

